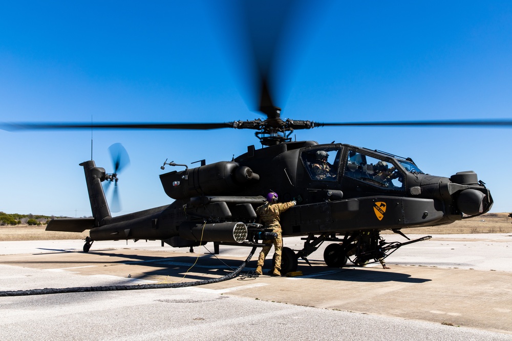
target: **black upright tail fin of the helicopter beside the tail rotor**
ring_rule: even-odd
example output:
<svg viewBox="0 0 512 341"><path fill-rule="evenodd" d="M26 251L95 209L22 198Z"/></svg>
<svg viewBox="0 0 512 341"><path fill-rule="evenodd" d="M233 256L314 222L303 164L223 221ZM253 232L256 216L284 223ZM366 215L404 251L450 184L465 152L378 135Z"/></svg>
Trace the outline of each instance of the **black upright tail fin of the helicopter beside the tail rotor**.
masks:
<svg viewBox="0 0 512 341"><path fill-rule="evenodd" d="M109 204L106 202L105 192L101 186L101 182L105 180L105 169L96 167L96 164L92 160L82 162L80 166L83 166L83 172L86 174L87 190L89 192L94 225L101 226L105 223L105 220L109 220L112 217Z"/></svg>

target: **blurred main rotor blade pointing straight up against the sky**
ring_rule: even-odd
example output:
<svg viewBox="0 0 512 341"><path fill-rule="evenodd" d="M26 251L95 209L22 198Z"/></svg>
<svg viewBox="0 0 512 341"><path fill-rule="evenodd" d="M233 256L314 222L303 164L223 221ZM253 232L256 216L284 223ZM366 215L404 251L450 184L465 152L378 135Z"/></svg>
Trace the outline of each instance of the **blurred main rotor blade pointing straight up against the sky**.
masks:
<svg viewBox="0 0 512 341"><path fill-rule="evenodd" d="M244 0L212 7L222 36L229 37L226 51L238 69L236 75L245 88L242 97L251 110L269 119L280 118L275 107L284 105L306 42L322 22L329 2Z"/></svg>

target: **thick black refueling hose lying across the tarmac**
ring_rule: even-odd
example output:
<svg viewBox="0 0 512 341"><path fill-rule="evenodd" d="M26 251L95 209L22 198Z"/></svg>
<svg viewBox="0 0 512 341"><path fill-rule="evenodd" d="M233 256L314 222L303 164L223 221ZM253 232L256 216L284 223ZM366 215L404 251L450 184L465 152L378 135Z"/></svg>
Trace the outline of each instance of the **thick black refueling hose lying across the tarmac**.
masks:
<svg viewBox="0 0 512 341"><path fill-rule="evenodd" d="M187 286L197 286L210 283L219 283L236 277L245 265L251 260L252 255L256 251L254 246L247 256L247 259L233 272L219 278L211 278L209 280L184 282L184 283L167 283L167 284L139 284L139 285L110 285L110 286L91 286L91 287L75 287L75 288L45 288L31 290L15 290L0 291L0 297L3 296L28 296L28 295L46 295L50 293L68 293L68 292L91 292L91 291L115 291L115 290L144 290L144 289L163 289L163 288L183 288Z"/></svg>

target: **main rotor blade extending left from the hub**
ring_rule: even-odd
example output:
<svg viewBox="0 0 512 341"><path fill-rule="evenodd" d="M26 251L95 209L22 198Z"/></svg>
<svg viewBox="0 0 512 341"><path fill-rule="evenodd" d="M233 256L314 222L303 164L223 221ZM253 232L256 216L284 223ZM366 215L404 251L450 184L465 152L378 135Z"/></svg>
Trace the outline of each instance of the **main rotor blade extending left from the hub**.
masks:
<svg viewBox="0 0 512 341"><path fill-rule="evenodd" d="M16 130L53 130L53 129L182 129L208 130L233 128L233 123L0 123L0 129Z"/></svg>

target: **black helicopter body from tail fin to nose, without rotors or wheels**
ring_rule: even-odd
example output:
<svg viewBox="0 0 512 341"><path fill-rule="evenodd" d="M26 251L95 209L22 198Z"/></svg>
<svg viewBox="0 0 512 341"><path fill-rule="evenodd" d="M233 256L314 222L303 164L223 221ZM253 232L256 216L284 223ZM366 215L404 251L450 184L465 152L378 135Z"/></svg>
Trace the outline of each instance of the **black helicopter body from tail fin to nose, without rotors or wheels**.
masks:
<svg viewBox="0 0 512 341"><path fill-rule="evenodd" d="M172 204L112 217L101 187L104 169L94 161L80 165L93 219L56 219L47 230L91 229L92 241L151 239L175 247L208 241L247 244L265 230L255 208L269 191L278 193L280 201L297 202L282 214L283 236L378 234L448 224L486 213L493 204L472 171L432 176L410 158L304 141L249 146L232 161L162 174L165 193L175 199Z"/></svg>

